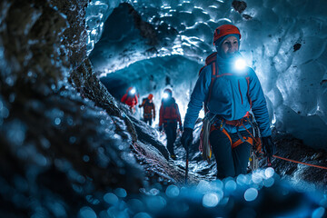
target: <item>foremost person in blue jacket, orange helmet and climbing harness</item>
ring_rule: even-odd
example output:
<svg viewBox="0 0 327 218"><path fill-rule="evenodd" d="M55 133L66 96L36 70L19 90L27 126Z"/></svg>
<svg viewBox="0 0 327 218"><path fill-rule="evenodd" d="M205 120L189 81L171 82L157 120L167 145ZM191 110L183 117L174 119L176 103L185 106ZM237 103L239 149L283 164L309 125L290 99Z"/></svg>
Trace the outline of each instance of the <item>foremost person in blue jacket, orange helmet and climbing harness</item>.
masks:
<svg viewBox="0 0 327 218"><path fill-rule="evenodd" d="M182 144L187 146L192 143L194 124L204 103L206 117L211 120L209 142L219 179L247 173L250 149L255 141L251 134L251 114L254 114L262 135L263 153L270 158L275 152L258 77L252 68L245 65L237 68L235 65L242 63L238 52L240 39L240 31L235 25L221 25L215 29L213 45L217 52L206 60L207 65L194 86L183 124Z"/></svg>

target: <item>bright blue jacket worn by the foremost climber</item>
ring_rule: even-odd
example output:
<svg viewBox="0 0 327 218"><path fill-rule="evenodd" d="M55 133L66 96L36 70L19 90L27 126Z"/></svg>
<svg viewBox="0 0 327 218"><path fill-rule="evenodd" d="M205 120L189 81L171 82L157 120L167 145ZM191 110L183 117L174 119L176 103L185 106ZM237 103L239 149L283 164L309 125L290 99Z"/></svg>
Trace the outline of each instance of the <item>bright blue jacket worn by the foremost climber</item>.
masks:
<svg viewBox="0 0 327 218"><path fill-rule="evenodd" d="M241 56L241 54L238 55ZM213 114L219 114L225 120L232 121L243 118L252 109L262 136L271 135L263 89L253 69L246 66L243 70L236 70L234 59L223 59L219 55L217 55L216 64L218 75L213 81L211 98L207 103L208 110ZM194 128L199 112L203 108L203 102L209 94L213 77L212 67L213 64L209 64L203 68L194 86L185 115L184 128ZM250 128L251 125L245 124L245 127ZM225 125L225 130L229 133L237 132L235 126L228 124ZM244 130L243 126L240 126L239 130Z"/></svg>

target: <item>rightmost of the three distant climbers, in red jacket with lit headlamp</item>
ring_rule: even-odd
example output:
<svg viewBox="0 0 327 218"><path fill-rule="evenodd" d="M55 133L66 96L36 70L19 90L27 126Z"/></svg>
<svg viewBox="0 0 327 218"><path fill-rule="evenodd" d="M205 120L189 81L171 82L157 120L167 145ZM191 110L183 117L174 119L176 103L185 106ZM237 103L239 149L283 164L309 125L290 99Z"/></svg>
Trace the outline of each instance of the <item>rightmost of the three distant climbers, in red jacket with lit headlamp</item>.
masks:
<svg viewBox="0 0 327 218"><path fill-rule="evenodd" d="M167 137L167 149L174 160L176 159L176 155L173 152L173 144L177 137L177 122L179 123L180 131L183 131L181 114L173 98L173 91L166 88L163 91L163 100L160 107L159 131L162 132L164 129Z"/></svg>

